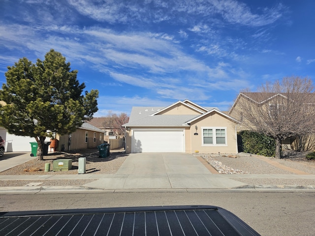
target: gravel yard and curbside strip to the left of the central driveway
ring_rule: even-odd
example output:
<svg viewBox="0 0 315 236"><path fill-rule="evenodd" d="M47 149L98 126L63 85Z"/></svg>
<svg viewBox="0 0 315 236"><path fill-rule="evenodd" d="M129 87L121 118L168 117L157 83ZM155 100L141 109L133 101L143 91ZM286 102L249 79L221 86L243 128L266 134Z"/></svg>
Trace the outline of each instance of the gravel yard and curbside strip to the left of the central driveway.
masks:
<svg viewBox="0 0 315 236"><path fill-rule="evenodd" d="M76 152L54 152L44 156L43 161L36 158L9 170L0 172L0 175L78 175L78 160L86 157L86 174L115 174L127 155L124 150L111 150L106 158L100 158L98 149L82 149ZM57 159L72 159L72 168L68 171L53 171L53 161ZM45 172L45 164L50 163L50 172ZM0 187L26 186L32 182L36 186L66 186L84 185L96 179L52 179L52 180L0 180Z"/></svg>

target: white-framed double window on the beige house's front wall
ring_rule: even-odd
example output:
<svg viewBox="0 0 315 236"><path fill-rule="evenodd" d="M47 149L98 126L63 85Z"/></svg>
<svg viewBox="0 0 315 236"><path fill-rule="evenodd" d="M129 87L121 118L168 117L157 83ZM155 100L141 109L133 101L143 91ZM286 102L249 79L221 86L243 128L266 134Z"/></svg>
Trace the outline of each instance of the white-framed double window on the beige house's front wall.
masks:
<svg viewBox="0 0 315 236"><path fill-rule="evenodd" d="M202 145L226 145L225 127L202 127Z"/></svg>

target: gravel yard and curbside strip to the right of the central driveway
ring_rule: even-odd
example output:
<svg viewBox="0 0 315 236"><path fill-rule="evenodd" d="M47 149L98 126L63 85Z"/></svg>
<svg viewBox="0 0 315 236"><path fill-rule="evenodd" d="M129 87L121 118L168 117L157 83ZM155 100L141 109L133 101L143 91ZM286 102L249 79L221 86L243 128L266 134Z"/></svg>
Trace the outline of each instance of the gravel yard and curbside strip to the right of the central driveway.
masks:
<svg viewBox="0 0 315 236"><path fill-rule="evenodd" d="M265 160L275 161L284 167L293 168L298 171L315 175L315 161L307 160L306 153L288 152L288 155L283 159L276 159L273 157L263 157ZM257 155L248 153L239 153L238 155L217 155L217 154L203 154L201 155L210 165L212 165L220 174L229 175L243 175L242 178L231 179L241 181L243 183L252 185L313 185L315 186L315 179L299 178L297 175L294 179L284 178L247 178L246 174L270 174L270 175L294 175L294 173L270 165L266 161L257 158Z"/></svg>

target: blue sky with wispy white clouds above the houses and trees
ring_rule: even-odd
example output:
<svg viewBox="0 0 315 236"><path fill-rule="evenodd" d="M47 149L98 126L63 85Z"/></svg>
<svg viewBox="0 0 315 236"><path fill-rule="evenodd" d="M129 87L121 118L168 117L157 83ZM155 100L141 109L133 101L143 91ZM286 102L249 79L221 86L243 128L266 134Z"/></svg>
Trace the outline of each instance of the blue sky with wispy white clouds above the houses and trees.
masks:
<svg viewBox="0 0 315 236"><path fill-rule="evenodd" d="M228 110L241 89L315 77L313 0L0 0L0 83L51 49L98 89L95 117L189 99Z"/></svg>

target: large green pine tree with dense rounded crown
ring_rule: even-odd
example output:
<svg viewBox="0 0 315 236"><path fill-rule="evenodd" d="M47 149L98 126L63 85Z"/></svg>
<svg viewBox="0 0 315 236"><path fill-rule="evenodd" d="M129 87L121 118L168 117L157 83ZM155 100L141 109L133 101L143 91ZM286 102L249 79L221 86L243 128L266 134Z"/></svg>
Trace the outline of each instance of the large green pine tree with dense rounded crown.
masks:
<svg viewBox="0 0 315 236"><path fill-rule="evenodd" d="M27 58L8 66L6 84L0 90L0 126L9 133L34 137L37 156L43 160L46 137L70 134L98 110L98 91L85 91L76 70L59 52L51 49L42 61Z"/></svg>

